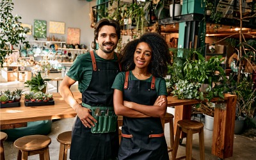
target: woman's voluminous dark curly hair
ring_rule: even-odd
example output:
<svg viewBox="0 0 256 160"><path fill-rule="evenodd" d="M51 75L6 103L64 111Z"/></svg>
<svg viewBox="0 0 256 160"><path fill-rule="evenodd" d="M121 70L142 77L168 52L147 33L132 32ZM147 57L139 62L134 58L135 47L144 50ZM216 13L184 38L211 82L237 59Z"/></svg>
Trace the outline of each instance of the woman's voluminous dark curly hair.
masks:
<svg viewBox="0 0 256 160"><path fill-rule="evenodd" d="M163 36L159 33L144 33L140 38L132 40L121 51L122 70L133 70L135 63L133 60L136 47L141 42L147 43L152 49L152 59L148 66L148 72L155 77L165 77L167 74L167 65L171 61L169 47Z"/></svg>

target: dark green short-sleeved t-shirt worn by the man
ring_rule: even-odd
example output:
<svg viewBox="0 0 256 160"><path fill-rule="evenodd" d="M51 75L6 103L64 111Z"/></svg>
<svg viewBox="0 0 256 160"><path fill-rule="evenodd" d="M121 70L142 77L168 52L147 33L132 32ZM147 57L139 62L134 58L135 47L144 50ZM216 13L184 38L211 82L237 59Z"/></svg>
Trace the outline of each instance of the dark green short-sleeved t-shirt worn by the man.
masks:
<svg viewBox="0 0 256 160"><path fill-rule="evenodd" d="M93 51L93 53L95 56L96 65L97 61L117 61L116 54L113 60L105 60L103 58L100 58L100 56L98 56L95 51ZM80 54L79 56L77 56L73 65L68 70L67 76L74 79L75 81L78 81L78 90L79 92L83 93L90 84L90 81L92 79L92 72L92 58L90 52L86 52L85 54Z"/></svg>

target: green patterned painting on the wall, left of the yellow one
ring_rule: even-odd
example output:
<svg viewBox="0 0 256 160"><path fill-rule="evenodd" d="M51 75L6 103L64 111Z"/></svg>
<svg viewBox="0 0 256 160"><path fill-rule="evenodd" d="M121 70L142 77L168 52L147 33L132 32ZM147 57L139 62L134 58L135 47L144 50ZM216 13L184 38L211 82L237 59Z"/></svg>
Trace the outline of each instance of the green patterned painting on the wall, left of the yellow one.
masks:
<svg viewBox="0 0 256 160"><path fill-rule="evenodd" d="M34 36L36 38L46 38L46 20L34 20Z"/></svg>

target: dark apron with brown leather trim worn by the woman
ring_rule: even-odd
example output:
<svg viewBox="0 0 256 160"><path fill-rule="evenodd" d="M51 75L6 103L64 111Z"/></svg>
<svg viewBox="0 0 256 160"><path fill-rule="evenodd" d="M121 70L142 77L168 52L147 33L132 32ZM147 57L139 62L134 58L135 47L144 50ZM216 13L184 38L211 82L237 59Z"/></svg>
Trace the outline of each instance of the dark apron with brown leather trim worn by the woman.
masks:
<svg viewBox="0 0 256 160"><path fill-rule="evenodd" d="M145 81L129 81L124 90L124 100L154 105L157 99L156 90L150 88L151 83ZM169 159L164 136L149 138L151 134L163 134L161 118L129 118L124 116L122 136L118 159ZM129 137L130 136L130 137Z"/></svg>

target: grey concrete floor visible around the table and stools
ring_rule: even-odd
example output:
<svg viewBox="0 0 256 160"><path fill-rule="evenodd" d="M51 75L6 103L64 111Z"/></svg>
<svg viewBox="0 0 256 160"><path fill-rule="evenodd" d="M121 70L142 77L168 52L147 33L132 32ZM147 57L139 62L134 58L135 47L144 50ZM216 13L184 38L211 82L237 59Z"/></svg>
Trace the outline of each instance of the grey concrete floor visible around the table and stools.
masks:
<svg viewBox="0 0 256 160"><path fill-rule="evenodd" d="M24 83L19 81L0 83L0 91L10 89L15 90L16 88L24 88ZM73 91L77 90L77 84L74 84L71 88ZM28 91L28 88L24 88ZM50 81L47 87L48 92L56 92L56 81ZM1 111L1 110L0 110ZM169 111L169 109L168 109ZM198 118L198 117L196 117ZM60 143L56 140L58 134L64 131L70 131L72 129L74 118L63 118L61 120L54 120L52 123L52 130L48 136L51 138L52 142L49 145L50 157L53 160L58 159ZM202 119L204 122L204 118ZM167 144L170 144L170 134L169 126L165 125L165 136ZM211 154L211 145L212 145L212 131L204 129L204 144L205 144L205 159L218 159L218 157ZM193 157L200 159L199 154L199 145L198 145L198 134L193 135ZM179 145L177 157L184 156L186 152L186 138L184 138L182 145ZM234 148L233 156L228 157L228 160L244 160L244 159L255 159L256 156L256 141L252 141L241 135L234 135ZM13 141L4 141L4 155L6 160L13 160L17 158L17 150L13 147ZM169 154L171 158L171 153ZM38 155L29 156L29 160L38 160Z"/></svg>

